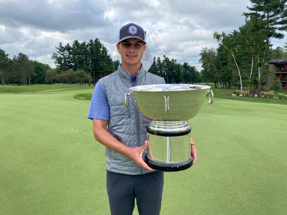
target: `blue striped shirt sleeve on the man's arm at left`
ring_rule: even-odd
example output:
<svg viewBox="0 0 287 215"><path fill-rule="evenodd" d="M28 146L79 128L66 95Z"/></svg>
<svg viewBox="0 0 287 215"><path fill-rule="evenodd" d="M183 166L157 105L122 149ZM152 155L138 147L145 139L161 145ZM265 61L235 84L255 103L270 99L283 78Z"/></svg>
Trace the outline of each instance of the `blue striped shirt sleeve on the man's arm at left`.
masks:
<svg viewBox="0 0 287 215"><path fill-rule="evenodd" d="M108 99L99 81L94 88L87 118L103 119L106 121L109 121L110 119L110 106Z"/></svg>

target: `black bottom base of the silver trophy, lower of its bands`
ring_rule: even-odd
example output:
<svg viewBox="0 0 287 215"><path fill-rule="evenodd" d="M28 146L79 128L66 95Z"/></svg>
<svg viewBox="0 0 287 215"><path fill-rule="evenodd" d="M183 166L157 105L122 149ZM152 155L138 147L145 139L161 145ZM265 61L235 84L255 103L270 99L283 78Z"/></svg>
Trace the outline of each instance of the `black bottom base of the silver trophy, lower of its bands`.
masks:
<svg viewBox="0 0 287 215"><path fill-rule="evenodd" d="M193 157L188 159L185 162L182 163L173 163L173 164L168 164L168 163L161 163L161 162L156 162L154 160L151 160L146 156L145 162L146 164L154 169L154 170L159 170L159 171L164 171L164 172L176 172L176 171L181 171L190 168L193 165Z"/></svg>

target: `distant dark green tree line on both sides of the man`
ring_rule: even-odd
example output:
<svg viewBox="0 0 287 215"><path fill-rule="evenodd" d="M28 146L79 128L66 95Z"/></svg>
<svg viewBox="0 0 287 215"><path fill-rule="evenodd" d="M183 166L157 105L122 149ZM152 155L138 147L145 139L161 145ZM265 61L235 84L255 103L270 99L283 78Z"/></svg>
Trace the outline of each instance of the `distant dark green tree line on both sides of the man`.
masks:
<svg viewBox="0 0 287 215"><path fill-rule="evenodd" d="M13 82L17 85L44 83L77 83L94 84L106 75L111 74L120 64L113 61L108 49L99 39L88 42L75 40L70 45L61 42L52 54L56 68L48 64L30 60L27 55L19 53L13 59L0 49L0 75L2 85ZM164 77L166 83L193 83L200 81L200 74L196 67L187 62L180 64L176 59L164 55L153 58L149 72Z"/></svg>

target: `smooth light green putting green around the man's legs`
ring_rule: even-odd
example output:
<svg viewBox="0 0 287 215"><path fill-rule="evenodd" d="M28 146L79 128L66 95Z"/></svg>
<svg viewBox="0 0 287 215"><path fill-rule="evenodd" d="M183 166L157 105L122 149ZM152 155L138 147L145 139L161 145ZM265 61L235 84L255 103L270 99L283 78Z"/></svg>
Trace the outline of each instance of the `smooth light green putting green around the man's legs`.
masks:
<svg viewBox="0 0 287 215"><path fill-rule="evenodd" d="M0 94L0 214L110 214L105 148L77 93L92 89ZM205 101L189 121L198 161L165 173L161 214L287 214L285 115L285 105Z"/></svg>

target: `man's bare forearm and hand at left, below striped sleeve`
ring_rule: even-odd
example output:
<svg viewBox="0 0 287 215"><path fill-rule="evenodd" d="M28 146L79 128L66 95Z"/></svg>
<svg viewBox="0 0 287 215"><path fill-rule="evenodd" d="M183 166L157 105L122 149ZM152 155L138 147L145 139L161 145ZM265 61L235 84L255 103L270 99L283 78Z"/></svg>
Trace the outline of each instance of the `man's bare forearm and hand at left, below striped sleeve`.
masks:
<svg viewBox="0 0 287 215"><path fill-rule="evenodd" d="M104 146L129 157L140 167L152 171L152 168L150 168L142 159L143 152L148 146L148 141L146 141L145 144L141 147L129 148L128 146L115 139L107 131L107 125L108 121L106 120L93 119L93 132L95 139Z"/></svg>

